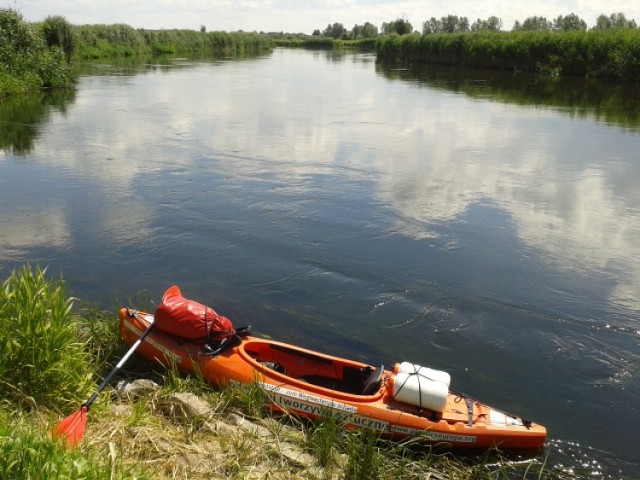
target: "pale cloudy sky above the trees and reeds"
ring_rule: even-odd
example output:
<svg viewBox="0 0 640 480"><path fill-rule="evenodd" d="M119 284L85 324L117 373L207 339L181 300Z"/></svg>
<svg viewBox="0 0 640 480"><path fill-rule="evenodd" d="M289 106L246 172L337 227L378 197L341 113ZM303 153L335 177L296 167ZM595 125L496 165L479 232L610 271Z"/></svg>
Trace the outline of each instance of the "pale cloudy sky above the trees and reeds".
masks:
<svg viewBox="0 0 640 480"><path fill-rule="evenodd" d="M476 19L496 16L502 29L516 20L542 16L553 20L575 13L589 27L596 18L622 12L640 25L640 2L629 0L0 0L27 21L49 15L65 17L74 25L125 23L135 28L185 28L207 31L307 33L341 23L351 29L370 22L378 28L398 18L422 30L425 20L447 15Z"/></svg>

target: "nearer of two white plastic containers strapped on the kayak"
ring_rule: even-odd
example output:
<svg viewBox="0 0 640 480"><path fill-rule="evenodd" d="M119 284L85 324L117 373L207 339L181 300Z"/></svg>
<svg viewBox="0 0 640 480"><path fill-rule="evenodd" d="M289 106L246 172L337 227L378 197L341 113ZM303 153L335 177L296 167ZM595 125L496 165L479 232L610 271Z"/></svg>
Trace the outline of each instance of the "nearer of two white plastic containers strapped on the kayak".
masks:
<svg viewBox="0 0 640 480"><path fill-rule="evenodd" d="M417 373L397 373L393 379L393 398L420 408L442 412L449 388Z"/></svg>

